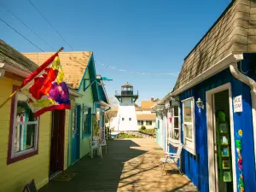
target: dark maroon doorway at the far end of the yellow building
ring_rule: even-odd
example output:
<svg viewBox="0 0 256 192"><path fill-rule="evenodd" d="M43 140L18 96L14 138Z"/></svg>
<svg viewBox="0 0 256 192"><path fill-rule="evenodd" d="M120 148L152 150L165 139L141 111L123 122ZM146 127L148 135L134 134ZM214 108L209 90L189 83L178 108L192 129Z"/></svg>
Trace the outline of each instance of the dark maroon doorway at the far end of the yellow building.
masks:
<svg viewBox="0 0 256 192"><path fill-rule="evenodd" d="M64 166L65 110L52 112L49 178L63 170Z"/></svg>

